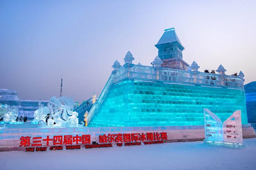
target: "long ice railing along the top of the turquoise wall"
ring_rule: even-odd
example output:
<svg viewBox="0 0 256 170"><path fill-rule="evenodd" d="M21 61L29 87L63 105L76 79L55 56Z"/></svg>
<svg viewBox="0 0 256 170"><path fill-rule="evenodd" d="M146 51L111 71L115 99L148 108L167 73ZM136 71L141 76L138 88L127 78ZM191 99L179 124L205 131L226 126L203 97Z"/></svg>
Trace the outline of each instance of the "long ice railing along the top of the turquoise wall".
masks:
<svg viewBox="0 0 256 170"><path fill-rule="evenodd" d="M244 88L244 80L241 77L144 65L134 65L128 69L119 68L116 72L115 82L125 77Z"/></svg>

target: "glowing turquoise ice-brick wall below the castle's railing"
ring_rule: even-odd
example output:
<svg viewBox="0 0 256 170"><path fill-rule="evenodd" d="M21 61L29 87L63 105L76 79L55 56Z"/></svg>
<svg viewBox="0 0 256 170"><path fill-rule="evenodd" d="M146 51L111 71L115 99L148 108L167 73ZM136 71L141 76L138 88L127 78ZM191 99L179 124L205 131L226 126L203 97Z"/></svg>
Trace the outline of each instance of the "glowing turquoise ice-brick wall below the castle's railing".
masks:
<svg viewBox="0 0 256 170"><path fill-rule="evenodd" d="M204 108L221 120L241 110L247 124L242 89L126 78L112 85L89 126L204 125Z"/></svg>

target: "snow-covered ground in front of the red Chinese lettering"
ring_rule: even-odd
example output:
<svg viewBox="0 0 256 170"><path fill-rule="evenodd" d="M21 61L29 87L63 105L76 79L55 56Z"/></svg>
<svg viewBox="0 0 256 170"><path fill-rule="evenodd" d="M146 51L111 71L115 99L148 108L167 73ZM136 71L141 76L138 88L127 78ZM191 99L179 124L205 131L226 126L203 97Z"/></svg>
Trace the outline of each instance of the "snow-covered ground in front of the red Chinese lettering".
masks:
<svg viewBox="0 0 256 170"><path fill-rule="evenodd" d="M0 170L256 170L256 138L246 148L179 142L46 152L1 152Z"/></svg>

